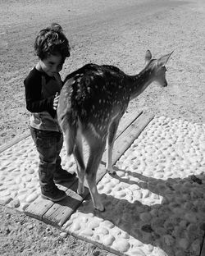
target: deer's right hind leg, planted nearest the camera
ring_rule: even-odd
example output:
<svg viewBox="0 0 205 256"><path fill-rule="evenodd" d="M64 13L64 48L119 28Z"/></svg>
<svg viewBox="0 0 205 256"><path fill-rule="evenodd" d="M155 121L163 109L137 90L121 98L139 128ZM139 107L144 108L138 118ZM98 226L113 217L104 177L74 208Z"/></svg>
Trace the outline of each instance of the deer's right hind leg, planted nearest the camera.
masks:
<svg viewBox="0 0 205 256"><path fill-rule="evenodd" d="M103 203L101 203L100 195L98 194L96 185L96 175L99 167L99 163L103 157L106 140L97 138L86 138L89 144L89 160L85 169L85 177L88 181L89 192L93 200L93 207L99 211L104 211Z"/></svg>

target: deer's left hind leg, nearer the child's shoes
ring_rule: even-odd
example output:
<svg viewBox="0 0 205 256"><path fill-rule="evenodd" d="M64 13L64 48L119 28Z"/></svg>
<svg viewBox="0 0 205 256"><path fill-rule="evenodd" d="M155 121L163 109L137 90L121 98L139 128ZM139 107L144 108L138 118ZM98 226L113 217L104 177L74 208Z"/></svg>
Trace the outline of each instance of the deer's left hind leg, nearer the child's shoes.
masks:
<svg viewBox="0 0 205 256"><path fill-rule="evenodd" d="M82 136L79 132L76 137L76 144L74 149L74 158L77 165L78 173L78 194L84 194L84 156L83 156L83 145L82 145Z"/></svg>

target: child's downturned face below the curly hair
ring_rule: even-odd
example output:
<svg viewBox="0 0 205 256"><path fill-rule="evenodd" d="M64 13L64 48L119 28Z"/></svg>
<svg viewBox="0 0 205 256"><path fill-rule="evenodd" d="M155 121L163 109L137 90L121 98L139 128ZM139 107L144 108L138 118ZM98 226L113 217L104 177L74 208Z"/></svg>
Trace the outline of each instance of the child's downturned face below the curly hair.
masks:
<svg viewBox="0 0 205 256"><path fill-rule="evenodd" d="M49 76L53 76L56 73L62 70L62 65L64 60L62 59L62 55L49 55L43 60L39 60L39 64L43 72L45 72Z"/></svg>

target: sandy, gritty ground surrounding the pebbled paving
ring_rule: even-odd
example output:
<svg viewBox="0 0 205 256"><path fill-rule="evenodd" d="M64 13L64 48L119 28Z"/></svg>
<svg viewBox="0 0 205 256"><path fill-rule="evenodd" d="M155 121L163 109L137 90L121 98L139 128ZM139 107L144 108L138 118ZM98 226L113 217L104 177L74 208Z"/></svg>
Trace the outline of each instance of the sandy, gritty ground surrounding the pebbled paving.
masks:
<svg viewBox="0 0 205 256"><path fill-rule="evenodd" d="M205 123L203 0L0 0L0 145L29 130L23 80L37 62L35 35L51 22L71 43L62 78L94 62L134 75L153 57L174 53L168 87L151 85L129 109ZM32 243L31 243L32 241ZM0 208L1 255L112 255L12 209Z"/></svg>

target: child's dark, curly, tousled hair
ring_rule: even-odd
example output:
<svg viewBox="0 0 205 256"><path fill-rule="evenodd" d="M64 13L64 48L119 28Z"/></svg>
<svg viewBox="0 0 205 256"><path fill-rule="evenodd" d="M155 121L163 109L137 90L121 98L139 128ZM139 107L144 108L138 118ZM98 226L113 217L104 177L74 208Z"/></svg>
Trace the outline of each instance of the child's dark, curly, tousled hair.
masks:
<svg viewBox="0 0 205 256"><path fill-rule="evenodd" d="M70 49L62 26L57 23L52 23L46 29L40 30L34 41L35 53L41 60L50 54L57 55L59 53L65 59L70 56Z"/></svg>

